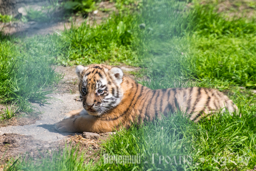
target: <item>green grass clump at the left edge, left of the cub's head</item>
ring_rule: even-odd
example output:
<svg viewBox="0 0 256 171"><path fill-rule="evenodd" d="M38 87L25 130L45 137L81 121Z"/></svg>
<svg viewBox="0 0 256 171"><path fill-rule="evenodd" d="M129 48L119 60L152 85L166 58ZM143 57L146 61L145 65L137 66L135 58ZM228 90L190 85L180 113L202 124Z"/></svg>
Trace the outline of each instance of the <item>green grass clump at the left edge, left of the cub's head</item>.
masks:
<svg viewBox="0 0 256 171"><path fill-rule="evenodd" d="M40 38L36 43L41 42ZM61 75L55 58L42 53L34 42L3 36L0 41L0 100L15 101L20 112L32 112L31 102L45 103ZM45 49L44 49L45 50ZM48 49L49 50L49 49ZM48 90L46 90L48 88Z"/></svg>

